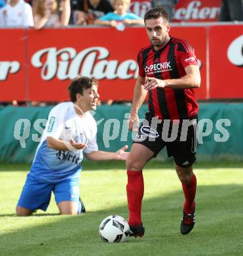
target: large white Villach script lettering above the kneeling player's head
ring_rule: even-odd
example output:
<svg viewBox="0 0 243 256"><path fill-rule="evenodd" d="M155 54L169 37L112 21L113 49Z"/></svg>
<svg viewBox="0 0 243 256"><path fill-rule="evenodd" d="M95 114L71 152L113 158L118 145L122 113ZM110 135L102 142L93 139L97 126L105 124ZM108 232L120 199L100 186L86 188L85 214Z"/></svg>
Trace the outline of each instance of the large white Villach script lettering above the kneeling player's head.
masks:
<svg viewBox="0 0 243 256"><path fill-rule="evenodd" d="M43 57L46 57L43 63ZM58 50L56 47L41 49L33 54L31 64L42 68L41 77L50 80L73 79L77 75L86 75L95 79L130 79L138 75L136 60L107 60L109 51L104 47L90 47L77 53L71 47Z"/></svg>

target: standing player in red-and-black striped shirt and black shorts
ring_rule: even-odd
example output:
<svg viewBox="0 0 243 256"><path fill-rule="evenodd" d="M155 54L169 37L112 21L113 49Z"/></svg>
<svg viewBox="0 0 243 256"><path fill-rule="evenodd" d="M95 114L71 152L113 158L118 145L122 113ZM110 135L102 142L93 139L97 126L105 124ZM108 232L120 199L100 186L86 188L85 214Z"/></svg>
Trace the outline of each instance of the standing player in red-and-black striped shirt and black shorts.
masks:
<svg viewBox="0 0 243 256"><path fill-rule="evenodd" d="M196 154L198 104L195 88L200 72L193 47L184 39L169 35L168 14L162 7L146 12L145 28L151 45L138 53L139 74L129 118L129 129L138 129L126 160L126 186L130 236L143 236L141 221L143 173L145 164L166 147L185 195L181 234L195 224ZM138 128L138 110L149 93L149 112Z"/></svg>

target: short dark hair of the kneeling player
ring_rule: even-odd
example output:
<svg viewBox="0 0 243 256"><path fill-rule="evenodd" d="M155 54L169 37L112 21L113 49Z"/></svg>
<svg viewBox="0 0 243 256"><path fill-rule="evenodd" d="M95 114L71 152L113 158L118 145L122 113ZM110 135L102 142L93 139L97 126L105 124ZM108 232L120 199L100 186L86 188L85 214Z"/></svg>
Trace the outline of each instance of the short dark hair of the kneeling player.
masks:
<svg viewBox="0 0 243 256"><path fill-rule="evenodd" d="M75 102L77 100L77 93L83 95L84 90L91 88L92 85L96 85L98 87L98 81L96 81L96 79L92 79L81 75L75 77L75 79L71 81L68 87L68 92L71 101Z"/></svg>

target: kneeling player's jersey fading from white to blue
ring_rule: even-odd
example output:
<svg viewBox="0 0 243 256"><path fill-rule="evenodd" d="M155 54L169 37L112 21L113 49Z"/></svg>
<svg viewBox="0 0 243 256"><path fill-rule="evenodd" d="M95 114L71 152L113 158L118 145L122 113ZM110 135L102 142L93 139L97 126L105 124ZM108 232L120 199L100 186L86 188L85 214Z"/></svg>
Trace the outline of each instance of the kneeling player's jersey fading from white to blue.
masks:
<svg viewBox="0 0 243 256"><path fill-rule="evenodd" d="M47 126L37 147L30 175L45 182L59 182L79 177L83 150L75 150L68 144L73 139L87 145L85 153L98 150L96 143L97 125L89 112L79 116L73 102L58 104L50 111ZM48 148L47 137L67 142L69 150Z"/></svg>

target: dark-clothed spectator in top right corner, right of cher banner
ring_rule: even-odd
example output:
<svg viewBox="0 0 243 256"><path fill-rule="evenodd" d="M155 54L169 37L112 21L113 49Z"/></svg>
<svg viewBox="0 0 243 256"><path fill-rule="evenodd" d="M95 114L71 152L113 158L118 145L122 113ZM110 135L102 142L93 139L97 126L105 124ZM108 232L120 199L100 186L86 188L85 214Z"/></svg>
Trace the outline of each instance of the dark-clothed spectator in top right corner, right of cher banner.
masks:
<svg viewBox="0 0 243 256"><path fill-rule="evenodd" d="M242 21L243 0L223 0L221 3L219 21Z"/></svg>

